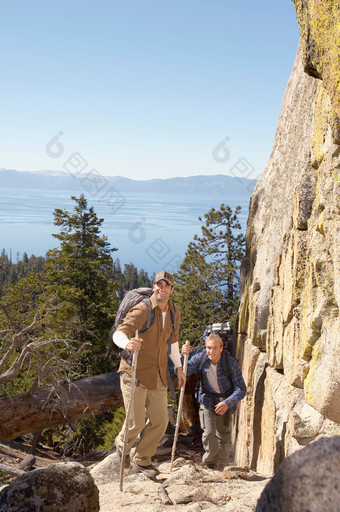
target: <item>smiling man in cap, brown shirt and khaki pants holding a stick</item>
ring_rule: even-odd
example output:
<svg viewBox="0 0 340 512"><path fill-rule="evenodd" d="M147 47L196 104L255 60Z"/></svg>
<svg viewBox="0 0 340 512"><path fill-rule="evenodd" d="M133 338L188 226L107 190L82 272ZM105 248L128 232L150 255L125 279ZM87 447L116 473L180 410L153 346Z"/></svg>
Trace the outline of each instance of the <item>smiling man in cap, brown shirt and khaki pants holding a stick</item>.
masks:
<svg viewBox="0 0 340 512"><path fill-rule="evenodd" d="M155 476L152 456L168 426L167 364L169 356L177 371L178 387L185 385L178 346L180 310L170 300L174 289L174 277L169 272L158 272L154 278L153 294L150 297L154 320L141 338L135 337L148 318L148 306L139 302L126 314L123 322L113 335L114 343L134 352L138 350L136 380L131 417L127 436L126 453L129 453L138 435L142 432L134 455L134 471L142 471L147 476ZM173 318L176 318L175 327ZM121 358L118 369L125 410L127 410L131 389L131 366ZM118 457L123 451L124 429L115 439Z"/></svg>

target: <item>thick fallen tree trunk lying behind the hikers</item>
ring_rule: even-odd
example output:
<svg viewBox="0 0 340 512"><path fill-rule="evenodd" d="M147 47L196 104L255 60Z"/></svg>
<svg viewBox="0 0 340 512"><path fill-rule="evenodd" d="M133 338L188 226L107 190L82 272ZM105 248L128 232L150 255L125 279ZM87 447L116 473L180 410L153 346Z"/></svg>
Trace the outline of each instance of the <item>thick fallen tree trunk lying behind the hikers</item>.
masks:
<svg viewBox="0 0 340 512"><path fill-rule="evenodd" d="M55 427L123 405L119 374L86 377L65 384L63 410L49 388L0 400L0 441Z"/></svg>

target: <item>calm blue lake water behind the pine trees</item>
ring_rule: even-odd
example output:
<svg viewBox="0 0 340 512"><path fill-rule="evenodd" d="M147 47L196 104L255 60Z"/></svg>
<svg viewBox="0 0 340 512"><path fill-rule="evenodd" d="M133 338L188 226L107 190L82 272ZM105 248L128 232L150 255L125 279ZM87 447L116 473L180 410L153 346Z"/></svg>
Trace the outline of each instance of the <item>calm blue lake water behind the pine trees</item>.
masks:
<svg viewBox="0 0 340 512"><path fill-rule="evenodd" d="M30 256L45 256L58 240L54 226L55 208L71 212L75 202L69 191L3 188L0 190L0 250L5 249L17 260L24 252ZM175 272L182 262L188 243L195 234L201 234L203 217L212 207L219 209L222 203L234 209L242 207L239 217L246 229L249 197L247 195L225 197L204 195L138 194L124 193L121 204L109 199L88 197L98 218L103 218L101 232L107 236L111 247L118 250L113 258L133 263L148 273L159 269Z"/></svg>

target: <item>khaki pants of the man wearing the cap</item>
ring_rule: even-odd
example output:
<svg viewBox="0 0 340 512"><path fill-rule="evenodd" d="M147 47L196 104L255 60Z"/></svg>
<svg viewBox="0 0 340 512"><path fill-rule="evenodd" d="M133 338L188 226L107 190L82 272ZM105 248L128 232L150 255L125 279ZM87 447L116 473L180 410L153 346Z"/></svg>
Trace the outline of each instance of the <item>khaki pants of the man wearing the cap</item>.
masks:
<svg viewBox="0 0 340 512"><path fill-rule="evenodd" d="M120 387L124 400L125 411L128 409L131 377L126 372L120 374ZM157 445L168 426L168 395L167 388L158 375L157 389L144 386L135 388L133 405L130 413L126 454L129 454L138 435L142 432L135 452L135 462L141 466L151 464ZM117 436L116 442L122 451L124 442L125 422Z"/></svg>

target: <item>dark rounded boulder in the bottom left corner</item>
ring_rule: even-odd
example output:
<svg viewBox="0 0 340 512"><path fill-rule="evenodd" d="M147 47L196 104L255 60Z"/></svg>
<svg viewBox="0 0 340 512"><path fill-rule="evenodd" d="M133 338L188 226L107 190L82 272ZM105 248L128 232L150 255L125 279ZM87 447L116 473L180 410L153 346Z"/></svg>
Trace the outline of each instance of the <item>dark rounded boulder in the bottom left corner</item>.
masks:
<svg viewBox="0 0 340 512"><path fill-rule="evenodd" d="M77 462L50 464L26 473L0 493L1 512L98 512L99 491Z"/></svg>

